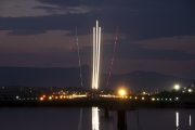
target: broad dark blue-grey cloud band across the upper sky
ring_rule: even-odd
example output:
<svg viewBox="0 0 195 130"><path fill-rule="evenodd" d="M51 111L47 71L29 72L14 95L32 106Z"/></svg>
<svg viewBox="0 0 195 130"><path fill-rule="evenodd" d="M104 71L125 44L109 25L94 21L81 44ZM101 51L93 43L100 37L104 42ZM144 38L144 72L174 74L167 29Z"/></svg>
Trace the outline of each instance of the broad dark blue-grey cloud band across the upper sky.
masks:
<svg viewBox="0 0 195 130"><path fill-rule="evenodd" d="M38 17L1 17L1 30L80 30L79 35L90 34L94 21L100 20L105 32L126 34L128 40L151 39L195 34L195 17L187 1L154 0L39 0L40 2L63 6L89 5L94 10L86 13L67 13ZM99 2L98 4L95 4ZM109 3L109 4L108 4ZM46 8L47 11L58 10ZM28 31L28 32L29 32ZM74 35L70 32L69 36Z"/></svg>

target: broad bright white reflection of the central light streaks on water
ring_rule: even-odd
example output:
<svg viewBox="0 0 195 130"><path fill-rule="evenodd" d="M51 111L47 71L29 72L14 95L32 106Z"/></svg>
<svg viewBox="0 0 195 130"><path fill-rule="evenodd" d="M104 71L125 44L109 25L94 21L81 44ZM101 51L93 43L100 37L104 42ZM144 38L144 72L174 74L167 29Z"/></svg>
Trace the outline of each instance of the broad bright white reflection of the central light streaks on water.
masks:
<svg viewBox="0 0 195 130"><path fill-rule="evenodd" d="M99 108L92 107L92 130L100 130L99 123Z"/></svg>

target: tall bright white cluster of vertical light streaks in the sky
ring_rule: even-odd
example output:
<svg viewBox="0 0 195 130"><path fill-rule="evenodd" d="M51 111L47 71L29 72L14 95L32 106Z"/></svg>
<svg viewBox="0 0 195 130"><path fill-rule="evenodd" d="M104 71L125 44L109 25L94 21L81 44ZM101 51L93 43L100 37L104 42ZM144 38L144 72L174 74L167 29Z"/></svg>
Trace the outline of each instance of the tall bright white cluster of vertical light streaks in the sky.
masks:
<svg viewBox="0 0 195 130"><path fill-rule="evenodd" d="M99 88L100 60L101 58L101 27L96 21L96 27L93 27L93 72L92 89Z"/></svg>

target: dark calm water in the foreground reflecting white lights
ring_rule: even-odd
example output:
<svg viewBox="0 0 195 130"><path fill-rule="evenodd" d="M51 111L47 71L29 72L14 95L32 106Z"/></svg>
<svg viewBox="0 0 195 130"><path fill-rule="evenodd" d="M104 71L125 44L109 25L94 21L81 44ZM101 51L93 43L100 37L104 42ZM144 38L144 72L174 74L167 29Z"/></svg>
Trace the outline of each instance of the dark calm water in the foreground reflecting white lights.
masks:
<svg viewBox="0 0 195 130"><path fill-rule="evenodd" d="M195 109L140 108L126 115L128 130L195 130ZM105 117L100 107L0 107L0 130L117 130L117 112Z"/></svg>

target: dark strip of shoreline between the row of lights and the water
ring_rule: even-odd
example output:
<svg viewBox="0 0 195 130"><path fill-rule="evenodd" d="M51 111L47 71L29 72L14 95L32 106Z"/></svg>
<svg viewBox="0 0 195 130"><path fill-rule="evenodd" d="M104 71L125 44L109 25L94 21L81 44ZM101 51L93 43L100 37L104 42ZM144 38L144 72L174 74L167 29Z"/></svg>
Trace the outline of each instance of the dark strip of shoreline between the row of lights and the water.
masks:
<svg viewBox="0 0 195 130"><path fill-rule="evenodd" d="M106 107L109 110L133 110L141 107L195 108L195 102L132 101L126 99L72 99L58 101L0 101L0 107Z"/></svg>

